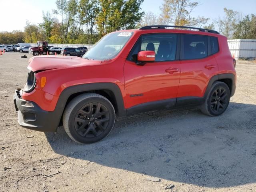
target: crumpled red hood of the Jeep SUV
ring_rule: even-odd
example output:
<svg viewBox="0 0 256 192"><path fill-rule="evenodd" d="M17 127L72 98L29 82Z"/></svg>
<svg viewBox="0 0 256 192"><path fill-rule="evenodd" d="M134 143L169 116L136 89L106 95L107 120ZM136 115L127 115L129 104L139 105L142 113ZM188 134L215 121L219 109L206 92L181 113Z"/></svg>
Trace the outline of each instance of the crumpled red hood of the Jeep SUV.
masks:
<svg viewBox="0 0 256 192"><path fill-rule="evenodd" d="M36 72L84 65L97 65L101 63L102 61L88 60L73 56L34 56L29 59L28 70Z"/></svg>

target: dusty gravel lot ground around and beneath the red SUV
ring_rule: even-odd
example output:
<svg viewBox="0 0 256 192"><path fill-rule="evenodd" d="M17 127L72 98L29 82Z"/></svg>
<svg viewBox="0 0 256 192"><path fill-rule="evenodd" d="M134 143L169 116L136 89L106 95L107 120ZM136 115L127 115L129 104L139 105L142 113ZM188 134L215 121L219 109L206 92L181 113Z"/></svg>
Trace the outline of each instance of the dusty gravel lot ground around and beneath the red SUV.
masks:
<svg viewBox="0 0 256 192"><path fill-rule="evenodd" d="M81 145L61 127L18 125L12 95L31 57L22 55L0 55L0 191L256 192L255 63L237 62L236 94L221 116L190 108L144 114Z"/></svg>

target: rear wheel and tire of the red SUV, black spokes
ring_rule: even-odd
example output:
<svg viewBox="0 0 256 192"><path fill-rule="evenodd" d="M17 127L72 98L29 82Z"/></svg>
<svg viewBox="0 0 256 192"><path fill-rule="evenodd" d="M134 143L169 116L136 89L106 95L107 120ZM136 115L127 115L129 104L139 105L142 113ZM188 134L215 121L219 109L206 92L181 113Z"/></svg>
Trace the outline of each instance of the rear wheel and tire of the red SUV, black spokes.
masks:
<svg viewBox="0 0 256 192"><path fill-rule="evenodd" d="M200 106L200 110L209 116L219 116L225 112L230 101L230 90L224 82L216 81Z"/></svg>

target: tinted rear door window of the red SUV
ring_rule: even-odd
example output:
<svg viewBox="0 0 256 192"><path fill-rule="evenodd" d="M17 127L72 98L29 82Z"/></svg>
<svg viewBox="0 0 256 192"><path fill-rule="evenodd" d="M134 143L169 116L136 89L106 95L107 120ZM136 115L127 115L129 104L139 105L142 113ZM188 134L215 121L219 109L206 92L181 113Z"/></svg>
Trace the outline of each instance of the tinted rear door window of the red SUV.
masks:
<svg viewBox="0 0 256 192"><path fill-rule="evenodd" d="M181 59L200 59L208 56L207 36L182 35Z"/></svg>

